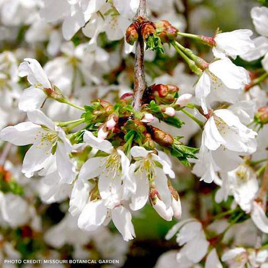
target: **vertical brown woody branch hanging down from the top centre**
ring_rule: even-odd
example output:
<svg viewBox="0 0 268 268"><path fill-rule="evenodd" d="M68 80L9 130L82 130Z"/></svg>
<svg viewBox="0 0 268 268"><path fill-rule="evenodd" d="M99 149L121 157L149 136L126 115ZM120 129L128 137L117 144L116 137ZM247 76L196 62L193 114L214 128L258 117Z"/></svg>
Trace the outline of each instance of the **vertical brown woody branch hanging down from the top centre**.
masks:
<svg viewBox="0 0 268 268"><path fill-rule="evenodd" d="M146 0L140 0L136 18L139 16L146 17ZM136 42L135 65L134 65L134 94L132 106L134 110L140 111L142 106L142 97L147 87L144 73L144 41L141 33L139 33Z"/></svg>

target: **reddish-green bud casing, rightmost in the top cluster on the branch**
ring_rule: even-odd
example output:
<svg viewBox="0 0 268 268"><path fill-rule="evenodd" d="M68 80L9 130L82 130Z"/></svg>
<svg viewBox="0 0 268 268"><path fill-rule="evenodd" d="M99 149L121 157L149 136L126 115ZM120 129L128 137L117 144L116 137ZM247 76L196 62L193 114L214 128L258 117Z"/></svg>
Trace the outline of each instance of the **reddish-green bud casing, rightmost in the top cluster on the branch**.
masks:
<svg viewBox="0 0 268 268"><path fill-rule="evenodd" d="M178 30L168 21L162 20L157 22L155 26L157 36L161 39L162 43L168 43L176 39Z"/></svg>

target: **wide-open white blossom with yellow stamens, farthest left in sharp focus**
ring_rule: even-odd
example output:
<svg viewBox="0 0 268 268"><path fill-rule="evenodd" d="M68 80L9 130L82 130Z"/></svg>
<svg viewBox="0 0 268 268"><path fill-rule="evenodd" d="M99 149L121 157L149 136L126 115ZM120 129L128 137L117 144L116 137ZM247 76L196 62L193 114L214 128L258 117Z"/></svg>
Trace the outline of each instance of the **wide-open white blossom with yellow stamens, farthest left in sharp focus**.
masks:
<svg viewBox="0 0 268 268"><path fill-rule="evenodd" d="M46 166L46 161L55 158L60 177L71 183L75 176L68 155L72 146L64 131L40 110L29 111L27 116L30 122L6 127L0 134L1 139L15 145L33 144L24 157L22 172L32 177L35 171Z"/></svg>

